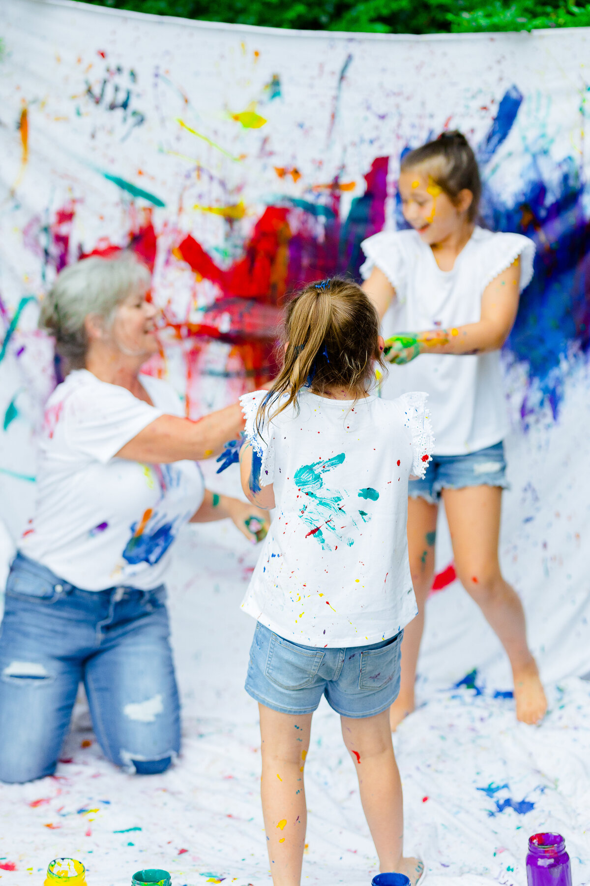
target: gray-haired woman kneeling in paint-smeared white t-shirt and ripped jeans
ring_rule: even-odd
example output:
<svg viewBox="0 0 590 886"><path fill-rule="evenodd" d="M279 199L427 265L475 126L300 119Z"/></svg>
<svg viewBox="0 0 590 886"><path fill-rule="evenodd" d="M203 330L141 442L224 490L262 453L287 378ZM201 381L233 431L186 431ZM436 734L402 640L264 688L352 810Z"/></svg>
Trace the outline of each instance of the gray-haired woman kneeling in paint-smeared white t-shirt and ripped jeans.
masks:
<svg viewBox="0 0 590 886"><path fill-rule="evenodd" d="M73 366L50 397L34 516L6 586L0 639L0 780L50 775L84 681L96 737L130 773L180 750L165 572L185 523L252 505L207 492L196 459L243 427L238 403L180 417L157 351L149 271L132 254L66 268L40 324Z"/></svg>

